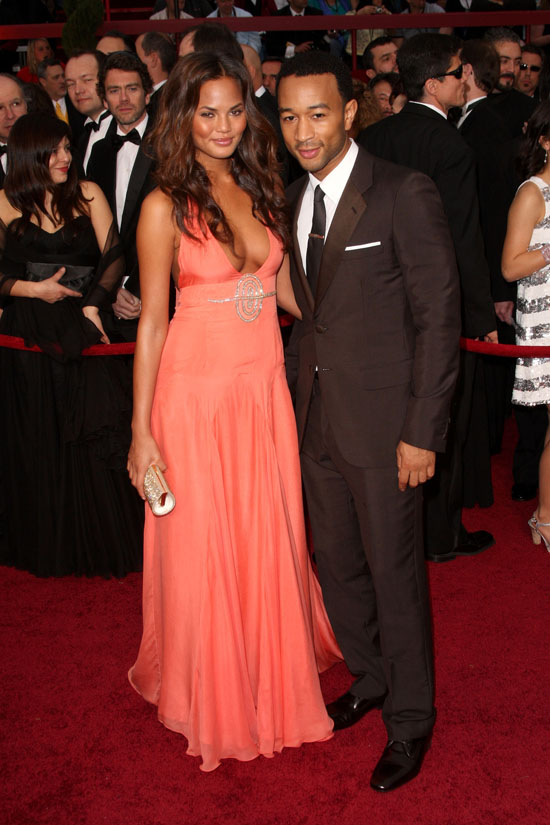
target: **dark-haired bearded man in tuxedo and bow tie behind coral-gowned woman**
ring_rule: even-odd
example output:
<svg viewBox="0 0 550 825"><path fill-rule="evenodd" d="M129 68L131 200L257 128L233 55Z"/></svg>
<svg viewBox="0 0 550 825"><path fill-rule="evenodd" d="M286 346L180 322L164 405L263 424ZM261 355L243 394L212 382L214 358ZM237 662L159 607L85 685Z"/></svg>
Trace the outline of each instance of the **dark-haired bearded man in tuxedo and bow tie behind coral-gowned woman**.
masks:
<svg viewBox="0 0 550 825"><path fill-rule="evenodd" d="M113 304L114 329L109 337L135 341L141 313L136 229L144 198L155 183L153 159L144 150L150 128L147 104L152 89L147 67L132 52L108 55L99 75L98 91L113 115L116 128L98 141L88 163L111 206L126 258L126 277Z"/></svg>

